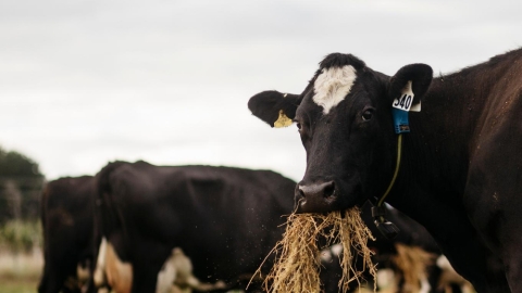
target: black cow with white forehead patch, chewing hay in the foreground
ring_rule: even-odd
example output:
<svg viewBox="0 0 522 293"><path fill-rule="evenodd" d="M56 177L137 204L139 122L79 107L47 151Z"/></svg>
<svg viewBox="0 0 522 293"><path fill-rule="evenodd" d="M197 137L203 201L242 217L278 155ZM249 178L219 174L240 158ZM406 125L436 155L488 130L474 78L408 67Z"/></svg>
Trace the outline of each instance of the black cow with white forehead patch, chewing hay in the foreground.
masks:
<svg viewBox="0 0 522 293"><path fill-rule="evenodd" d="M300 212L350 208L391 186L386 202L422 224L478 292L522 292L521 49L438 78L425 64L387 76L333 53L302 93L264 91L249 109L299 128Z"/></svg>

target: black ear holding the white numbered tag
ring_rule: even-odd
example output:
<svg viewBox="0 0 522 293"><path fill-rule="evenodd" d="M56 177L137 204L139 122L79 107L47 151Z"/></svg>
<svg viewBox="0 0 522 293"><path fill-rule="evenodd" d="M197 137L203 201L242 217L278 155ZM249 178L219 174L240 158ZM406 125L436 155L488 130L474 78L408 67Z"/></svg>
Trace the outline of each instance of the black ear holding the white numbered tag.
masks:
<svg viewBox="0 0 522 293"><path fill-rule="evenodd" d="M433 69L426 64L410 64L400 68L389 80L388 95L391 101L399 98L403 88L411 80L411 88L414 94L413 103L419 103L432 84Z"/></svg>

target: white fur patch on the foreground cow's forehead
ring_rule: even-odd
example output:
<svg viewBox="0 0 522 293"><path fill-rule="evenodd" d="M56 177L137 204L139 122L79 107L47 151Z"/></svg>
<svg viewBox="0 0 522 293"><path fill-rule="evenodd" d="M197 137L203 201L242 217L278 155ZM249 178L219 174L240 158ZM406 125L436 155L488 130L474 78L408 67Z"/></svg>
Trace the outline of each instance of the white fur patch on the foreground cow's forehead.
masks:
<svg viewBox="0 0 522 293"><path fill-rule="evenodd" d="M328 114L350 92L357 78L356 68L351 65L323 69L313 84L313 101Z"/></svg>

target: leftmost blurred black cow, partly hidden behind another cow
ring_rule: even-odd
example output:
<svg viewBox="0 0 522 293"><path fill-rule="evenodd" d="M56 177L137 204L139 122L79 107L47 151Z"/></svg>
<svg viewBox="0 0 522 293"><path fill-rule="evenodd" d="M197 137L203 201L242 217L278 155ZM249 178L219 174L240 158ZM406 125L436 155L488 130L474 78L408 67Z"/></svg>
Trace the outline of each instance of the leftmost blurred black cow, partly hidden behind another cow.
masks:
<svg viewBox="0 0 522 293"><path fill-rule="evenodd" d="M47 183L41 194L44 273L39 293L80 292L94 269L92 176L64 177ZM78 273L79 272L79 273ZM79 276L78 276L79 275Z"/></svg>

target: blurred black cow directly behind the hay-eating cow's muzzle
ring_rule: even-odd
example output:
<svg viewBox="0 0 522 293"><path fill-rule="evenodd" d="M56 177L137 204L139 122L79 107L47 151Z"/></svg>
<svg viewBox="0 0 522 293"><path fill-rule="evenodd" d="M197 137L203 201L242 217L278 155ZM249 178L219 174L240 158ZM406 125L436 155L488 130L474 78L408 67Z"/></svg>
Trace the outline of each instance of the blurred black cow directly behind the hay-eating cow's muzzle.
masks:
<svg viewBox="0 0 522 293"><path fill-rule="evenodd" d="M108 279L116 292L129 291L124 282L130 279L135 293L154 292L173 249L190 258L202 282L244 285L282 238L282 215L293 212L296 187L270 170L146 162L110 163L97 182L101 231L113 258Z"/></svg>

